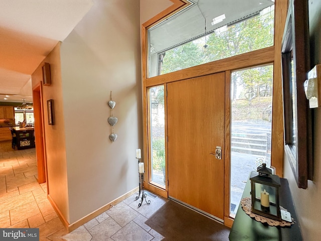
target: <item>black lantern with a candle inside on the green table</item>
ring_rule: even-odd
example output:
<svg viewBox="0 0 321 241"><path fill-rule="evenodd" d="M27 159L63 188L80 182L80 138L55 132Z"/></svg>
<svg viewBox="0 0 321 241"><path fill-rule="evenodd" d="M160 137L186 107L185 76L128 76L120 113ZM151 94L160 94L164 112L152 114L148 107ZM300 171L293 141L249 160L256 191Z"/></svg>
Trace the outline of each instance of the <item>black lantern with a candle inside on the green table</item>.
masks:
<svg viewBox="0 0 321 241"><path fill-rule="evenodd" d="M257 172L251 172L251 212L274 220L281 220L279 187L280 178L272 175L266 164L257 168Z"/></svg>

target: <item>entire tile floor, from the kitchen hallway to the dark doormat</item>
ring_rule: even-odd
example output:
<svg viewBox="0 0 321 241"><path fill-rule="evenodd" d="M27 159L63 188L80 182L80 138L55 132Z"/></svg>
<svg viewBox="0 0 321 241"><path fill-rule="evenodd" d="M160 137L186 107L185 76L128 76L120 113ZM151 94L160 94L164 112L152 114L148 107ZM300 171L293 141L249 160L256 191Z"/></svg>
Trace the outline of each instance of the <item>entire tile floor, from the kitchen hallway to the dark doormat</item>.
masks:
<svg viewBox="0 0 321 241"><path fill-rule="evenodd" d="M152 198L138 208L134 194L106 212L67 233L47 199L47 184L37 182L35 149L13 150L0 142L0 228L37 227L40 240L118 241L162 240L164 237L144 222L167 199Z"/></svg>

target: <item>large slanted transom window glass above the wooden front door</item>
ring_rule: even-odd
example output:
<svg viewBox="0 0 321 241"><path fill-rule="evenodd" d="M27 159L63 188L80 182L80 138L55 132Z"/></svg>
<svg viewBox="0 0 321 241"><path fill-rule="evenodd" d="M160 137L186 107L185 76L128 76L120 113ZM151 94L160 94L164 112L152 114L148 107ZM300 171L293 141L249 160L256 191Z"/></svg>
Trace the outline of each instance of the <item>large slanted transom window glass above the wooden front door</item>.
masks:
<svg viewBox="0 0 321 241"><path fill-rule="evenodd" d="M190 0L148 29L148 77L273 46L274 0Z"/></svg>

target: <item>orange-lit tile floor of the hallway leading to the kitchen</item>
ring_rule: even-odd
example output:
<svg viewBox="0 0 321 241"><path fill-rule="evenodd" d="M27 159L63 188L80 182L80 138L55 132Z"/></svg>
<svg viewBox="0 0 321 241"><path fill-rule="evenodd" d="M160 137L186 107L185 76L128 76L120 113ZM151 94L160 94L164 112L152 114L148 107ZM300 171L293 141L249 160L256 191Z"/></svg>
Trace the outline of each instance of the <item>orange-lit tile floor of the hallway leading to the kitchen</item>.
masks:
<svg viewBox="0 0 321 241"><path fill-rule="evenodd" d="M0 227L39 227L40 240L46 240L64 226L47 199L47 184L36 178L35 148L17 151L1 142Z"/></svg>

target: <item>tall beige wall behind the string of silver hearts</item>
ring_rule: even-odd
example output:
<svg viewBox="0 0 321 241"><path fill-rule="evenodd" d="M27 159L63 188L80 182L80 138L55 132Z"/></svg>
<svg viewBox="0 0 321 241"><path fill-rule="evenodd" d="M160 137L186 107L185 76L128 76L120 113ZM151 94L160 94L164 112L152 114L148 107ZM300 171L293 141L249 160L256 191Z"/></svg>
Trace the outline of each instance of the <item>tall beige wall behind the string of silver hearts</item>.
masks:
<svg viewBox="0 0 321 241"><path fill-rule="evenodd" d="M70 223L138 186L142 149L138 0L94 0L61 44ZM116 101L113 143L107 105Z"/></svg>

